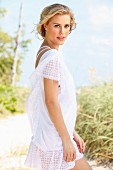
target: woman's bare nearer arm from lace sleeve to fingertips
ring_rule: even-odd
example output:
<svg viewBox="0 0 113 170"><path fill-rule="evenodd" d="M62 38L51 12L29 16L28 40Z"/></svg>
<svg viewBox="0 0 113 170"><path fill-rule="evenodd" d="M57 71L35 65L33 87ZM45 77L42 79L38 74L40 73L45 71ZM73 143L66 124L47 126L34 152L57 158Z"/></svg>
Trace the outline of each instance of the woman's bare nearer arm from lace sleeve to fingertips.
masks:
<svg viewBox="0 0 113 170"><path fill-rule="evenodd" d="M63 142L64 159L67 162L73 161L76 158L76 151L71 142L58 102L58 81L44 78L44 93L50 118Z"/></svg>

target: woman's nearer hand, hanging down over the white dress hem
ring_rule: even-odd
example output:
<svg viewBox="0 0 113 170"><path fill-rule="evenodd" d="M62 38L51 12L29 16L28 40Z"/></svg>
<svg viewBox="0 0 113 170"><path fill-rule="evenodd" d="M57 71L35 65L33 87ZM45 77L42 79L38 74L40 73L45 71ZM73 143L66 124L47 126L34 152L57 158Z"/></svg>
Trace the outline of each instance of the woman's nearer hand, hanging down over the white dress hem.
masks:
<svg viewBox="0 0 113 170"><path fill-rule="evenodd" d="M63 142L64 160L66 162L74 161L76 159L76 150L70 139Z"/></svg>

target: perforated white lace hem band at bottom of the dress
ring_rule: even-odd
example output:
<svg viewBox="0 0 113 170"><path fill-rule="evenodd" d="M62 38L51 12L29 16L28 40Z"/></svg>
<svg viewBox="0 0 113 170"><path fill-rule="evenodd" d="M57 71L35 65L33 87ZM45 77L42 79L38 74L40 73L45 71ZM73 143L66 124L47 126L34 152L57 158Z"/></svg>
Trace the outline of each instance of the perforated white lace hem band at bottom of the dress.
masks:
<svg viewBox="0 0 113 170"><path fill-rule="evenodd" d="M45 152L39 146L37 147L31 143L26 164L34 170L69 170L74 167L74 162L67 164L62 158L62 149Z"/></svg>

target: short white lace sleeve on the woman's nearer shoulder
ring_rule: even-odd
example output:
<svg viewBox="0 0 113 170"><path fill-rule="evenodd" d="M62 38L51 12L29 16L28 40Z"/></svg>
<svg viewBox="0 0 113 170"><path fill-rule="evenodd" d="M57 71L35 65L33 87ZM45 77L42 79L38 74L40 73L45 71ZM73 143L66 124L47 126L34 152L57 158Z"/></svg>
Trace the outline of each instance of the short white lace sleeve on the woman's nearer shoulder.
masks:
<svg viewBox="0 0 113 170"><path fill-rule="evenodd" d="M58 57L54 56L43 69L43 77L60 82L60 64Z"/></svg>

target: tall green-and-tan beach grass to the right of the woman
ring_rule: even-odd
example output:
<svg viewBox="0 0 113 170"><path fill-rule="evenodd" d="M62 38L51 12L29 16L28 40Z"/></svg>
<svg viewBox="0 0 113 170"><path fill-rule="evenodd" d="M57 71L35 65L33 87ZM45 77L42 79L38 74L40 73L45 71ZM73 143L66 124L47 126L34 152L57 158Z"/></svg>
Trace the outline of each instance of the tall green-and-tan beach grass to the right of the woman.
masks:
<svg viewBox="0 0 113 170"><path fill-rule="evenodd" d="M78 104L76 130L87 157L113 161L113 83L81 89Z"/></svg>

